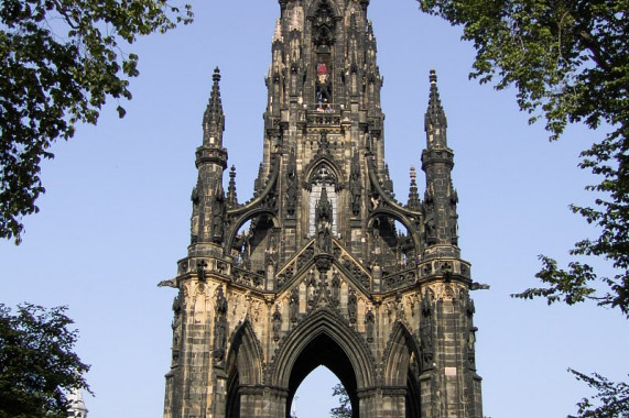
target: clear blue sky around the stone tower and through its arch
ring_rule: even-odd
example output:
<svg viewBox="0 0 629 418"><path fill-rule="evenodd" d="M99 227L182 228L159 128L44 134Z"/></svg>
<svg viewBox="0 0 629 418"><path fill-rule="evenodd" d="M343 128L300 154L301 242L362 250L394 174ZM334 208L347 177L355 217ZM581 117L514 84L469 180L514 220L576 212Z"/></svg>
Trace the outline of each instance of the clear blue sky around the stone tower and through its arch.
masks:
<svg viewBox="0 0 629 418"><path fill-rule="evenodd" d="M192 26L128 48L140 55L141 76L131 84L133 100L122 103L127 117L118 120L111 102L98 127L80 127L58 143L44 165L41 212L24 220L24 242L0 242L2 302L69 306L80 330L77 351L93 365L90 418L162 415L175 295L156 284L172 278L186 254L194 152L216 65L240 201L251 195L262 155L278 2L193 6ZM423 15L414 0L372 0L369 10L384 76L387 160L403 201L409 167L421 166L425 145L429 70L437 70L455 151L459 244L473 277L491 285L474 294L485 415L565 417L588 393L568 366L627 377L628 322L616 311L549 308L509 294L535 285L538 254L565 261L575 241L596 233L567 206L593 199L583 189L594 179L576 167L577 155L603 134L574 127L549 143L543 127L529 127L518 111L513 91L468 80L474 51L458 29ZM299 394L300 418L327 416L334 382L316 374Z"/></svg>

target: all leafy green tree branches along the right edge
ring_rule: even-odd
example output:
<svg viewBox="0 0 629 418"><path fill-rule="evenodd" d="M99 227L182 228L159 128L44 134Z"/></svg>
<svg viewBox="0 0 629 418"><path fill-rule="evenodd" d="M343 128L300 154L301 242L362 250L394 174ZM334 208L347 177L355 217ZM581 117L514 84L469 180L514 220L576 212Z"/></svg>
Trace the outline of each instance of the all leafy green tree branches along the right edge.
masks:
<svg viewBox="0 0 629 418"><path fill-rule="evenodd" d="M605 125L608 133L581 154L579 167L600 178L586 187L594 205L571 207L600 235L577 242L566 268L540 255L535 276L545 287L512 296L543 297L549 305L595 300L629 318L629 0L417 1L422 11L463 25L463 40L476 48L470 78L496 81L498 90L516 87L520 109L531 123L545 119L551 140L567 123ZM588 257L609 261L614 276L598 275ZM594 399L583 399L578 417L628 417L627 384L572 373L603 404L594 408Z"/></svg>

